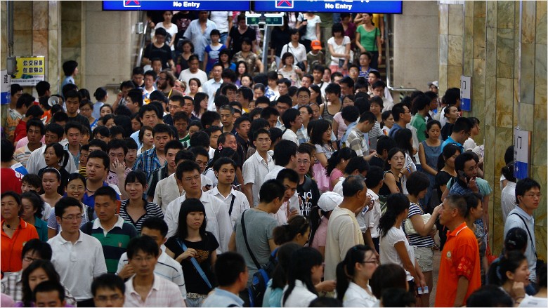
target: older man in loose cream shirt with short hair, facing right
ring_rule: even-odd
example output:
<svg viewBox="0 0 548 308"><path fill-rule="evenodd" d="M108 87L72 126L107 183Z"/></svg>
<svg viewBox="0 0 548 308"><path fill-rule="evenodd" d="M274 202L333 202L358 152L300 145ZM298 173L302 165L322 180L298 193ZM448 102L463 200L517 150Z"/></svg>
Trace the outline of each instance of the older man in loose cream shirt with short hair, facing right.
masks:
<svg viewBox="0 0 548 308"><path fill-rule="evenodd" d="M344 260L348 249L363 245L363 235L355 215L370 201L371 197L367 196L367 187L361 176L351 175L344 180L343 201L333 210L327 223L325 280L337 279L337 265Z"/></svg>

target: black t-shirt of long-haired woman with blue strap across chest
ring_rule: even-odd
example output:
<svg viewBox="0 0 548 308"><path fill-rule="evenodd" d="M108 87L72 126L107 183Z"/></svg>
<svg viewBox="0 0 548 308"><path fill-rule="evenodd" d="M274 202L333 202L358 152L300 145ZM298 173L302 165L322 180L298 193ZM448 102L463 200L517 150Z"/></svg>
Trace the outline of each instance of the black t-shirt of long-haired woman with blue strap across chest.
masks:
<svg viewBox="0 0 548 308"><path fill-rule="evenodd" d="M175 254L174 259L176 259L181 253L183 253L183 248L177 242L177 236L171 236L166 241L166 247ZM216 286L215 275L211 271L211 253L213 253L218 248L218 241L215 239L215 236L211 232L206 232L206 236L202 241L191 242L183 240L187 248L193 248L197 251L198 255L196 260L202 271L209 279L211 286ZM183 267L183 275L185 276L186 281L186 291L188 293L197 293L197 294L207 294L211 291L211 288L207 286L200 273L194 267L193 263L190 261L190 258L187 258L181 262Z"/></svg>

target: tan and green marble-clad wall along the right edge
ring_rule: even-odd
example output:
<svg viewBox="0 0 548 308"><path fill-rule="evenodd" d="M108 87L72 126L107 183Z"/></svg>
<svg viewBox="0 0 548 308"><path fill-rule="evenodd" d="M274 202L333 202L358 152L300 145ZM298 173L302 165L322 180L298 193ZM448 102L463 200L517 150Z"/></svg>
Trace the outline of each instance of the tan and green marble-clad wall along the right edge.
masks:
<svg viewBox="0 0 548 308"><path fill-rule="evenodd" d="M547 257L547 3L465 1L440 4L440 93L472 76L472 110L481 121L478 144L485 144L485 179L493 253L502 248L500 170L513 129L530 130L530 176L542 186L535 211L539 257ZM521 22L521 32L520 32ZM464 58L463 51L464 48Z"/></svg>

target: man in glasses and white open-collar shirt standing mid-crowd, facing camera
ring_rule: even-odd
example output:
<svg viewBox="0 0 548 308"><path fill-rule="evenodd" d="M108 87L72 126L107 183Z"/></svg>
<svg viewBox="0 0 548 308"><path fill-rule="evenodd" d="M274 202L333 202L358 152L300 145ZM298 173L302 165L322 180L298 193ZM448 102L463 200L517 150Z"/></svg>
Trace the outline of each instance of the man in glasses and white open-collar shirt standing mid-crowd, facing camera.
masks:
<svg viewBox="0 0 548 308"><path fill-rule="evenodd" d="M257 151L244 162L242 173L244 177L244 194L249 205L253 207L259 204L259 190L263 185L266 175L274 168L274 161L268 154L270 149L270 132L264 128L256 130L253 134L253 145Z"/></svg>

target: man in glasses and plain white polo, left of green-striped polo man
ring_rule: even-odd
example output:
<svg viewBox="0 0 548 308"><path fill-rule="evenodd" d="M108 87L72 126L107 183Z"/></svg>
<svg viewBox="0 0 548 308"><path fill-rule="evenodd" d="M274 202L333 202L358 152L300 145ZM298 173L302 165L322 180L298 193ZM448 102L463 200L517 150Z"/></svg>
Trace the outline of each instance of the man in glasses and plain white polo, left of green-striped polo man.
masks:
<svg viewBox="0 0 548 308"><path fill-rule="evenodd" d="M55 210L61 232L48 241L53 251L51 262L60 282L70 290L78 306L91 307L93 278L107 272L103 247L98 239L80 231L82 207L79 201L63 197L56 203Z"/></svg>

